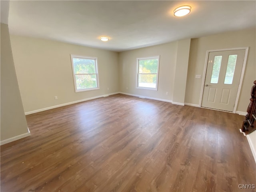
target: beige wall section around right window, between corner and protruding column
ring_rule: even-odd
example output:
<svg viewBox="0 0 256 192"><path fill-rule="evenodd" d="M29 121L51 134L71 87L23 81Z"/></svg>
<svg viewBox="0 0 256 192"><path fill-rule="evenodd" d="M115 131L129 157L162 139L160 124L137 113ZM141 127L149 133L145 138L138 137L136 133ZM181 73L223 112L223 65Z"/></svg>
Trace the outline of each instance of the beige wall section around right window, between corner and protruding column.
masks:
<svg viewBox="0 0 256 192"><path fill-rule="evenodd" d="M172 100L177 42L119 53L120 92ZM136 58L160 55L158 91L136 88ZM126 89L126 87L128 89ZM168 92L168 95L166 95Z"/></svg>

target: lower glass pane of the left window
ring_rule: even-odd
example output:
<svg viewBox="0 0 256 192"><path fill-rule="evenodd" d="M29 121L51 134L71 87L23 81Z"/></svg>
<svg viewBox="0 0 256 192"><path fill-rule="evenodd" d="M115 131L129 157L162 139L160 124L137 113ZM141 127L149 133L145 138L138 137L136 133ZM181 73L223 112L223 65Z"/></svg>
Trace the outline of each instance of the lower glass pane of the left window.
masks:
<svg viewBox="0 0 256 192"><path fill-rule="evenodd" d="M97 88L97 76L93 75L76 75L76 89Z"/></svg>

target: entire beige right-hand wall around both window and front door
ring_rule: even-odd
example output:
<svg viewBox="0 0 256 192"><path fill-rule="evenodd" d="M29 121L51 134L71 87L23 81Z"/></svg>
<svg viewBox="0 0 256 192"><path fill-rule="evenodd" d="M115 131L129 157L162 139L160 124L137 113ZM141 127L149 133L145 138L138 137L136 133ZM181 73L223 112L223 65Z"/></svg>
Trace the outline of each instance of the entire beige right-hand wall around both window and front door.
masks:
<svg viewBox="0 0 256 192"><path fill-rule="evenodd" d="M201 75L203 77L206 51L249 47L242 90L236 109L240 112L246 112L250 98L250 94L248 93L250 92L252 82L255 80L255 29L227 32L192 39L190 49L185 49L184 47L179 49L178 44L181 44L182 41L184 40L119 53L120 91L129 94L172 100L177 103L184 103L182 97L185 93L185 103L199 105L203 79L196 79L195 76ZM158 91L136 89L136 58L154 55L160 55ZM180 62L178 60L179 58L187 60L188 56L188 74L186 75L186 66L182 68L184 70L180 69ZM178 69L176 67L178 67ZM176 77L177 80L175 81ZM186 80L186 83L183 83L186 89L184 86L180 86L179 80L182 79ZM128 87L128 89L126 89L126 87ZM166 95L166 92L169 94Z"/></svg>

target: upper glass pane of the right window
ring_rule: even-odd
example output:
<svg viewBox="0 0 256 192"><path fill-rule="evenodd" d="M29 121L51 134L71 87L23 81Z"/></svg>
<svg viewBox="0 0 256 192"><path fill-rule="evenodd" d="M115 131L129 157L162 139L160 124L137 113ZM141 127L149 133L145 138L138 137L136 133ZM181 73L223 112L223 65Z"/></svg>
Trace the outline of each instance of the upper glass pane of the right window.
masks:
<svg viewBox="0 0 256 192"><path fill-rule="evenodd" d="M139 73L157 73L158 59L139 60Z"/></svg>

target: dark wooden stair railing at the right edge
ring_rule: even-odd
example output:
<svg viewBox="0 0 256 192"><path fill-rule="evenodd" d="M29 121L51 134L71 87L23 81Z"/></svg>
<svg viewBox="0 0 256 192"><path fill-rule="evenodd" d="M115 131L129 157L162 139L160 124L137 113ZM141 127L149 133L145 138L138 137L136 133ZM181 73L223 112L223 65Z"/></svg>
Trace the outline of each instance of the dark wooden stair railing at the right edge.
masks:
<svg viewBox="0 0 256 192"><path fill-rule="evenodd" d="M241 128L245 135L256 130L256 80L253 83L254 86L252 86L250 104L247 108L247 114Z"/></svg>

